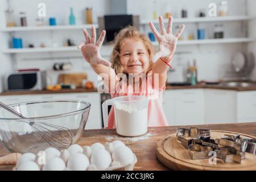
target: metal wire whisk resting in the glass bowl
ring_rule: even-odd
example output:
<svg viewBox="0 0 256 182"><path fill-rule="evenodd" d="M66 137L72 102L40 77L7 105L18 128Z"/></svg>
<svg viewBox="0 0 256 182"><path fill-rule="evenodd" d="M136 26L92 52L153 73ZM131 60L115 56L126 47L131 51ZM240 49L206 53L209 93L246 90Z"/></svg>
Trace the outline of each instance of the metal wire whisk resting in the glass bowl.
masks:
<svg viewBox="0 0 256 182"><path fill-rule="evenodd" d="M11 107L3 104L2 102L0 102L0 106L22 119L27 119L26 117L23 117L22 114L11 109ZM28 123L28 125L30 125L32 129L40 135L40 137L46 140L49 145L59 150L67 148L73 143L73 133L67 127L57 126L46 122L20 122Z"/></svg>

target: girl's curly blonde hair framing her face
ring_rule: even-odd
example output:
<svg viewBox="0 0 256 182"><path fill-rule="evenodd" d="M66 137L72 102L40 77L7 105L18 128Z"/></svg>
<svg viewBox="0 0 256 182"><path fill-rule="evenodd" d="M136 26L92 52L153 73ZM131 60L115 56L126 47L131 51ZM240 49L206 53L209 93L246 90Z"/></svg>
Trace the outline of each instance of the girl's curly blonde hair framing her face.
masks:
<svg viewBox="0 0 256 182"><path fill-rule="evenodd" d="M128 27L123 28L121 31L119 31L117 36L115 36L114 49L113 49L113 52L112 52L112 55L110 58L110 61L112 63L112 68L114 69L115 74L124 73L123 67L122 67L122 64L120 61L120 51L121 51L121 46L122 46L123 40L125 40L127 38L139 39L144 44L144 46L148 52L149 60L150 60L150 64L149 64L147 72L146 72L146 73L148 73L152 69L151 58L155 52L154 46L150 42L150 39L148 39L148 37L146 35L141 34L141 32L139 32L137 30L137 28L135 28L133 26L128 26Z"/></svg>

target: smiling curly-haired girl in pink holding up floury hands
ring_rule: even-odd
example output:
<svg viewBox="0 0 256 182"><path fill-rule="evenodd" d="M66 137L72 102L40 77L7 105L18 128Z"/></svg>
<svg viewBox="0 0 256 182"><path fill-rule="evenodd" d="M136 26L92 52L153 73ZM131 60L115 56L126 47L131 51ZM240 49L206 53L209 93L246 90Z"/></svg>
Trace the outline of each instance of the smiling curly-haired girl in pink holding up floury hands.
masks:
<svg viewBox="0 0 256 182"><path fill-rule="evenodd" d="M154 91L158 97L148 102L148 126L167 126L167 120L162 107L163 90L166 88L167 70L172 62L176 50L177 40L182 34L185 26L174 35L172 34L172 17L168 18L167 29L164 27L163 18L159 16L160 33L156 30L154 24L150 22L150 28L159 43L159 51L154 54L154 47L146 35L141 34L134 27L126 27L119 31L114 40L114 49L112 52L111 63L104 60L100 55L100 47L105 38L105 30L101 32L100 38L96 42L96 30L92 27L92 38L84 30L86 42L79 46L84 59L90 64L92 69L98 74L104 73L104 86L111 92L112 98L127 95L144 95ZM116 92L117 85L120 83L119 73L126 75L140 76L146 75L146 79L153 84L142 84L142 81L130 82L122 81L122 86L131 87L127 92ZM155 81L157 75L157 84ZM123 79L122 79L123 80ZM130 86L130 87L129 87ZM138 86L139 90L147 87L146 93L135 93L134 88ZM110 110L108 128L115 128L114 109Z"/></svg>

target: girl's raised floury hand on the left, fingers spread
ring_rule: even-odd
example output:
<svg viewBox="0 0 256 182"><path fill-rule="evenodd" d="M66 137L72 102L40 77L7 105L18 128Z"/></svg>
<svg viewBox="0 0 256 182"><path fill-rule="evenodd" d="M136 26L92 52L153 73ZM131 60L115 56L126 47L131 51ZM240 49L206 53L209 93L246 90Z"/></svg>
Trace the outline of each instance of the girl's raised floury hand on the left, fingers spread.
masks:
<svg viewBox="0 0 256 182"><path fill-rule="evenodd" d="M111 63L103 59L100 55L100 48L104 41L106 31L103 30L101 32L101 36L100 38L98 38L97 42L96 42L96 30L94 26L92 26L92 38L90 38L86 29L84 29L83 32L85 36L85 42L80 43L78 48L81 50L82 56L84 56L84 59L90 64L103 64L107 67L110 67Z"/></svg>

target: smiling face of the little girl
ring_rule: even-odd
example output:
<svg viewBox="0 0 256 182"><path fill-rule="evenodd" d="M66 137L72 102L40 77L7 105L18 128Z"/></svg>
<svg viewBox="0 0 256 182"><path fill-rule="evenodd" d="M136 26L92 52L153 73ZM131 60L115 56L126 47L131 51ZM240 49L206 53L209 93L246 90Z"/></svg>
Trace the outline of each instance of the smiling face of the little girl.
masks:
<svg viewBox="0 0 256 182"><path fill-rule="evenodd" d="M146 73L150 61L142 40L135 38L123 40L120 61L125 73Z"/></svg>

